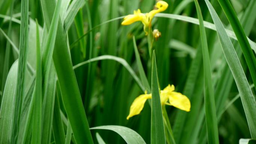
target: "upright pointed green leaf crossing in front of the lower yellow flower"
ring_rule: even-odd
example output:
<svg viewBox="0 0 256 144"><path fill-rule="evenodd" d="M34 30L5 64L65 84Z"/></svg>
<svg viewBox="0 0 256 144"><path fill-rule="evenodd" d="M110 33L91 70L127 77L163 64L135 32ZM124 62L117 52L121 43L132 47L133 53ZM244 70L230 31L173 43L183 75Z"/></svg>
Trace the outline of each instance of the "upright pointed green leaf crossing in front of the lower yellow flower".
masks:
<svg viewBox="0 0 256 144"><path fill-rule="evenodd" d="M152 58L152 103L151 103L151 144L166 144L164 132L164 119L158 87L158 76L156 70L156 56L153 51Z"/></svg>

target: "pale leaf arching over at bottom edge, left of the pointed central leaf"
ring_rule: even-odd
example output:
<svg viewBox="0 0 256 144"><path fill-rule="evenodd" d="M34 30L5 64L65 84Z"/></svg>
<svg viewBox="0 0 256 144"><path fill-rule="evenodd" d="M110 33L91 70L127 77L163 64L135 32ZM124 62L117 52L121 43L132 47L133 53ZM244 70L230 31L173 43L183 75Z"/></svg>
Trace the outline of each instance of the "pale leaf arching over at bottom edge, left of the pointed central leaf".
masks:
<svg viewBox="0 0 256 144"><path fill-rule="evenodd" d="M118 133L127 144L146 144L143 138L134 130L124 126L97 126L90 129L106 129Z"/></svg>

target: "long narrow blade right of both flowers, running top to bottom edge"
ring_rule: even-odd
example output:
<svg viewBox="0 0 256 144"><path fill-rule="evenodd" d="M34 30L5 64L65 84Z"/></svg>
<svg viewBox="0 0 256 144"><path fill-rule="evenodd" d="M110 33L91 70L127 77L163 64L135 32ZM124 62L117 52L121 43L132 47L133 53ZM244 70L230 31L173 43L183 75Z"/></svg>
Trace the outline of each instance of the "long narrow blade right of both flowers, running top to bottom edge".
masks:
<svg viewBox="0 0 256 144"><path fill-rule="evenodd" d="M218 124L214 101L213 83L211 81L211 65L208 52L206 32L201 9L197 0L195 1L196 12L199 19L200 37L202 43L202 56L204 64L204 107L207 125L208 144L219 144Z"/></svg>

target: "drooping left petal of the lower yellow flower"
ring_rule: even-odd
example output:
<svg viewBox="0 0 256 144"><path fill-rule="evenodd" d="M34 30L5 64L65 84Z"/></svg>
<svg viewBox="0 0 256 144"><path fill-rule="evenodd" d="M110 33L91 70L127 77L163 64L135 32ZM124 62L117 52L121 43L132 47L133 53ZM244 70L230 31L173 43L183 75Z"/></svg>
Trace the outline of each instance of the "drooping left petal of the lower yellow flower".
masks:
<svg viewBox="0 0 256 144"><path fill-rule="evenodd" d="M145 94L140 95L137 98L135 98L134 101L132 102L132 105L130 108L130 113L126 119L128 120L130 117L140 114L141 110L144 107L146 100L149 98L152 98L152 95L147 94L147 92L145 92Z"/></svg>

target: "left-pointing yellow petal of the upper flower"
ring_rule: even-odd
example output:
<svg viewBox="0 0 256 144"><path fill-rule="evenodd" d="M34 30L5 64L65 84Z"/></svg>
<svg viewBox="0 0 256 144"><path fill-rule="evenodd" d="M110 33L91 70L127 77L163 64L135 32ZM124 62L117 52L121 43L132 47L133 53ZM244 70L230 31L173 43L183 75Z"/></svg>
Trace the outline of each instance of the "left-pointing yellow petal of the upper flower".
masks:
<svg viewBox="0 0 256 144"><path fill-rule="evenodd" d="M140 9L138 9L137 11L134 10L133 15L125 16L124 21L122 22L122 25L129 25L137 21L144 22L145 19L146 19L146 16L140 12Z"/></svg>

